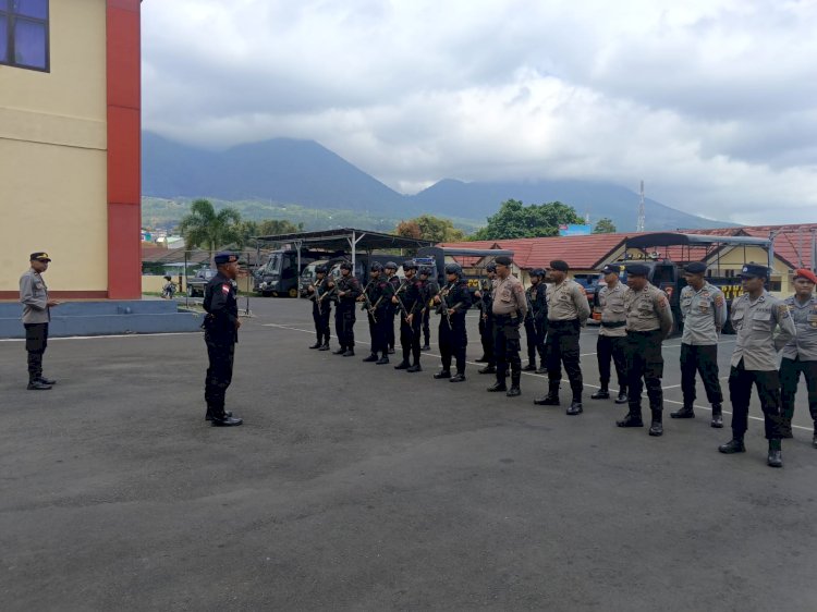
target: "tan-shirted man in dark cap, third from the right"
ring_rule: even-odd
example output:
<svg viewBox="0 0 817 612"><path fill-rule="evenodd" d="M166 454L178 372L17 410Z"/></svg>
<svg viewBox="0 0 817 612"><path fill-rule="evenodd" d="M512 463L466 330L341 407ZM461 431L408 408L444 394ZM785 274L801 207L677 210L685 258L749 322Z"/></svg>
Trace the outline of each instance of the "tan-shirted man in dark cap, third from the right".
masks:
<svg viewBox="0 0 817 612"><path fill-rule="evenodd" d="M723 393L718 379L718 335L727 322L727 301L704 278L706 264L692 261L684 268L687 285L681 290L681 391L684 406L672 418L695 418L695 372L700 375L706 399L712 405L711 426L723 427Z"/></svg>

